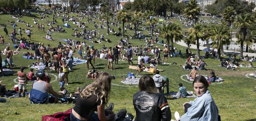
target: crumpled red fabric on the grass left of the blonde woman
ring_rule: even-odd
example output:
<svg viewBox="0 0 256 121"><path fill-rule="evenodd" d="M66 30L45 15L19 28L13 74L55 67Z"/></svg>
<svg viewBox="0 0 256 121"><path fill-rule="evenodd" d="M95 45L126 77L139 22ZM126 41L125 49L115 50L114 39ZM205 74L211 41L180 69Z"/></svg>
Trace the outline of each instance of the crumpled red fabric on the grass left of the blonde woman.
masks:
<svg viewBox="0 0 256 121"><path fill-rule="evenodd" d="M42 121L69 121L72 108L65 112L58 112L52 115L43 115Z"/></svg>

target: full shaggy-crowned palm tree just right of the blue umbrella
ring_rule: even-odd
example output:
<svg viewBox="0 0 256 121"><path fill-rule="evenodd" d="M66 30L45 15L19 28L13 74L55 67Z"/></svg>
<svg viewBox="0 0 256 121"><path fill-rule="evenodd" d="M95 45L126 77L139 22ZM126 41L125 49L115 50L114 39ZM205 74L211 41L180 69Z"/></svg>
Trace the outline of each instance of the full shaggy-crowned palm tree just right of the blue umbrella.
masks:
<svg viewBox="0 0 256 121"><path fill-rule="evenodd" d="M220 50L226 44L226 41L231 39L229 28L225 25L213 25L210 34L213 41L211 45L218 50L217 60L220 61Z"/></svg>

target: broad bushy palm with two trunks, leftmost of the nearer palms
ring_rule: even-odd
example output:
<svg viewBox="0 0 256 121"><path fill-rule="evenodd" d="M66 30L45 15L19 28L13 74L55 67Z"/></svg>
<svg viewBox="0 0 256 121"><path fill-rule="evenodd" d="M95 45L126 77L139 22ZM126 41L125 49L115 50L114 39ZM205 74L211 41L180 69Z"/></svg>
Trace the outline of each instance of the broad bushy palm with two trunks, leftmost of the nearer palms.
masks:
<svg viewBox="0 0 256 121"><path fill-rule="evenodd" d="M160 30L160 33L159 33L160 37L166 39L167 48L169 50L169 55L170 55L169 41L171 40L171 50L174 50L173 41L178 42L178 41L181 41L181 39L183 38L181 27L176 23L171 23L171 24L168 24L167 26L163 24L163 26L159 28L159 30Z"/></svg>

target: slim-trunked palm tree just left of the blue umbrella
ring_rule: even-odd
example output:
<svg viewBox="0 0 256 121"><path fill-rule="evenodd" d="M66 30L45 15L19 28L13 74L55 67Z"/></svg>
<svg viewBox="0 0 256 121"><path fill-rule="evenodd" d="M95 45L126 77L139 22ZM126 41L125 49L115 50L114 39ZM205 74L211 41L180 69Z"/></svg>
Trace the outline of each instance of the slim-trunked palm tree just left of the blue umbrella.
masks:
<svg viewBox="0 0 256 121"><path fill-rule="evenodd" d="M196 41L196 58L200 59L200 52L199 52L199 39L203 38L203 31L205 29L205 24L194 24L194 28L189 29L188 31L188 38L192 41Z"/></svg>

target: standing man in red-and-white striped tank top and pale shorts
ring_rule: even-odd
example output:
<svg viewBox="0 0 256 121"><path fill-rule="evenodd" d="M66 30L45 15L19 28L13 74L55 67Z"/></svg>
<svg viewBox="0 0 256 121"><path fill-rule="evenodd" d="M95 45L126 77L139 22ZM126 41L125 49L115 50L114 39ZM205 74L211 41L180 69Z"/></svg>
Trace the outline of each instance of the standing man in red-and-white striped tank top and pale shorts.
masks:
<svg viewBox="0 0 256 121"><path fill-rule="evenodd" d="M18 71L18 79L19 79L19 97L21 97L21 89L23 90L23 97L25 97L25 91L27 87L27 76L24 72L24 67L20 67L20 71Z"/></svg>

